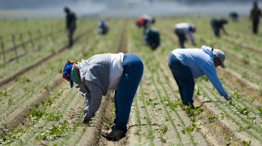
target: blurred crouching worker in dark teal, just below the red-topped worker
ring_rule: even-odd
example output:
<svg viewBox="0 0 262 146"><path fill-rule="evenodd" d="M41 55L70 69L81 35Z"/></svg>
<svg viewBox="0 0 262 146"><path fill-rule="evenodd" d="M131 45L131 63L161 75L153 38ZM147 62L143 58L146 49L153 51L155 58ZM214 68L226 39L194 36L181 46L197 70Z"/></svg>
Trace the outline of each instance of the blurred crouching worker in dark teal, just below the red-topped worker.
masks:
<svg viewBox="0 0 262 146"><path fill-rule="evenodd" d="M144 44L149 45L155 50L160 45L160 34L157 28L148 27L145 29Z"/></svg>

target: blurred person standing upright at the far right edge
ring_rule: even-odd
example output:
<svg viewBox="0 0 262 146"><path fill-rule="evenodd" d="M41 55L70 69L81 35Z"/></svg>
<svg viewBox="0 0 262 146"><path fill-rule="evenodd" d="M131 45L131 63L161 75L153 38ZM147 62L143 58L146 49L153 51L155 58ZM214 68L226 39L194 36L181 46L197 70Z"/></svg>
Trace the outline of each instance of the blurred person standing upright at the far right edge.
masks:
<svg viewBox="0 0 262 146"><path fill-rule="evenodd" d="M262 17L261 8L258 7L257 1L254 1L254 6L251 9L251 13L250 13L250 19L253 22L253 33L254 34L257 34L257 31L258 31L259 17Z"/></svg>

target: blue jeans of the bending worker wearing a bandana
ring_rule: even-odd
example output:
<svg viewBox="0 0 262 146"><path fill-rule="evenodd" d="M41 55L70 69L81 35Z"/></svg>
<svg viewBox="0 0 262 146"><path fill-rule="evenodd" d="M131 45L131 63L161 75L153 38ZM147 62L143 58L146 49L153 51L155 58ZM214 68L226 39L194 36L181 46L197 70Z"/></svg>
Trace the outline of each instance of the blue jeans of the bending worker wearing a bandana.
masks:
<svg viewBox="0 0 262 146"><path fill-rule="evenodd" d="M113 95L116 109L114 125L119 130L127 132L126 124L136 90L143 76L144 65L137 55L128 53L124 54L123 68L121 80Z"/></svg>

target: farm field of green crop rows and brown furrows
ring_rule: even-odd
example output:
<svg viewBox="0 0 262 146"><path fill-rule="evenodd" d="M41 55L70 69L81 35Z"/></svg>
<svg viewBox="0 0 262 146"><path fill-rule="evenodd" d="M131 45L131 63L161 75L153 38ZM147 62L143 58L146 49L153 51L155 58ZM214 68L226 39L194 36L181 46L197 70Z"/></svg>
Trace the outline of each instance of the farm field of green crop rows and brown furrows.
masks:
<svg viewBox="0 0 262 146"><path fill-rule="evenodd" d="M99 18L80 18L71 48L67 46L64 19L0 20L5 49L11 50L5 53L6 62L3 51L0 54L0 145L262 145L262 27L254 35L248 18L240 17L239 22L225 25L229 35L221 33L216 38L210 19L156 18L152 27L159 29L161 44L155 51L143 45L143 30L135 25L135 18L106 19L110 27L106 35L95 33ZM217 72L233 100L226 102L203 76L195 80L193 100L197 108L181 104L167 64L171 51L180 47L173 32L179 22L197 27L197 45L187 41L186 48L206 45L224 51L226 68L217 67ZM45 26L55 26L56 31ZM21 32L24 40L30 40L29 30L34 46L28 41L17 47L16 57L8 38L14 34L19 43ZM112 142L102 130L109 129L114 121L113 92L102 98L92 121L83 124L84 99L70 88L61 72L67 58L80 62L95 54L119 52L138 55L144 74L131 107L126 137Z"/></svg>

